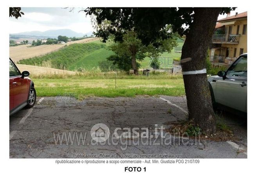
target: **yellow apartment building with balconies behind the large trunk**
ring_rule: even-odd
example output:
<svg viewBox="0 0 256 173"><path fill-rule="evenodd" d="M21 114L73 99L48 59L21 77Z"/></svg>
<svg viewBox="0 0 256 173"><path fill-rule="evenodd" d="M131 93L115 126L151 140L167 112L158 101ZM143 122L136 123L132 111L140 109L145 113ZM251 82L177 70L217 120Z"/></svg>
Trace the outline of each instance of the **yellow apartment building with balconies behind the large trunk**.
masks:
<svg viewBox="0 0 256 173"><path fill-rule="evenodd" d="M213 66L229 66L243 53L247 53L247 12L227 14L215 26L210 61Z"/></svg>

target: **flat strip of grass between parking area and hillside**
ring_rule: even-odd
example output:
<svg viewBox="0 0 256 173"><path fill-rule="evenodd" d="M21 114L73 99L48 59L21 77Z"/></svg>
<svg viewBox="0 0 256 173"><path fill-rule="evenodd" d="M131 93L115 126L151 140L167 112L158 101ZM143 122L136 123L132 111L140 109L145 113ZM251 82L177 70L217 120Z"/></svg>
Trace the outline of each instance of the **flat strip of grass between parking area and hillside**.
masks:
<svg viewBox="0 0 256 173"><path fill-rule="evenodd" d="M115 89L115 73L88 73L86 75L32 76L38 96L57 96L75 93L86 96L134 97L136 95L184 95L182 76L167 73L146 76L118 73Z"/></svg>

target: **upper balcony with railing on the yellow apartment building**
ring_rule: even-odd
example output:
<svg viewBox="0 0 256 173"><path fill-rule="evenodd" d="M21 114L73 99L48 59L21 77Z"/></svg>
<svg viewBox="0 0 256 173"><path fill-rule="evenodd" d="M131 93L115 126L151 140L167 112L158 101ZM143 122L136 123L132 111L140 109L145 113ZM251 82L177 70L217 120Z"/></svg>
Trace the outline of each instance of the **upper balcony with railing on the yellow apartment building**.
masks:
<svg viewBox="0 0 256 173"><path fill-rule="evenodd" d="M215 34L212 39L213 43L238 44L239 35L236 34Z"/></svg>

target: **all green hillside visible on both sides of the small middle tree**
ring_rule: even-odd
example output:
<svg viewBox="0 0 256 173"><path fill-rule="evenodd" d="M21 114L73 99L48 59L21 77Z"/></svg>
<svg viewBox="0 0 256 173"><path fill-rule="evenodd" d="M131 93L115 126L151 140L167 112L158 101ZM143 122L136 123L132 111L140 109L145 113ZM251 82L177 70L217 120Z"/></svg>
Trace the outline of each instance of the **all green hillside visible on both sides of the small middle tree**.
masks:
<svg viewBox="0 0 256 173"><path fill-rule="evenodd" d="M59 51L44 56L22 59L18 63L72 71L78 68L91 69L98 67L99 62L105 61L107 57L114 54L107 49L109 44L109 42L102 43L99 40L86 44L71 44L64 46ZM179 42L177 48L181 49L182 46L183 42ZM175 49L171 53L165 52L159 57L161 68L172 68L173 59L181 57L181 53L176 53ZM150 58L145 58L140 63L140 68L150 68Z"/></svg>

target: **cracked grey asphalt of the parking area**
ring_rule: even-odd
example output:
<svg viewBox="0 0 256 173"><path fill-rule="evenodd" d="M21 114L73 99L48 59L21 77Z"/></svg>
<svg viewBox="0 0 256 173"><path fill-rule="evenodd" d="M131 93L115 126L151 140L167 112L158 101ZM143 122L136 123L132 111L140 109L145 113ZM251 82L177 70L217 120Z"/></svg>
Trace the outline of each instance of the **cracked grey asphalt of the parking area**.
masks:
<svg viewBox="0 0 256 173"><path fill-rule="evenodd" d="M120 129L118 134L125 132L124 128L138 128L140 134L145 132L141 128L147 128L151 133L156 128L155 124L158 128L162 126L165 133L172 124L186 119L186 114L179 108L188 111L186 97L160 97L178 107L153 96L88 97L80 101L73 98L37 98L37 101L41 99L41 103L37 103L31 113L29 109L22 109L10 117L9 157L74 158L74 154L156 154L159 158L159 154L176 154L181 158L247 158L246 120L231 114L225 115L225 121L237 138L232 143L211 140L199 142L193 138L174 136L165 141L168 145L159 136L146 145L143 141L136 143L138 141L133 137L119 140L113 136L104 144L92 143L90 131L97 123L106 124L111 135L116 128ZM75 140L72 141L72 138ZM109 140L116 141L109 143Z"/></svg>

